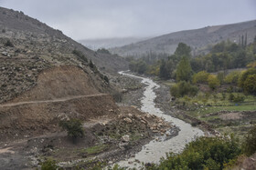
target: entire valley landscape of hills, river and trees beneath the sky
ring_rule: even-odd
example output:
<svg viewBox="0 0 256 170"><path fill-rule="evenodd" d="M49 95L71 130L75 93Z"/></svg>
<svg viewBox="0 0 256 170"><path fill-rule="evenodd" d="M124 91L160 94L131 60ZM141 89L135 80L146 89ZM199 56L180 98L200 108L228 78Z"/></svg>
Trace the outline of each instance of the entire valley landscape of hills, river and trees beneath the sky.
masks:
<svg viewBox="0 0 256 170"><path fill-rule="evenodd" d="M0 169L255 169L255 26L93 51L0 7Z"/></svg>

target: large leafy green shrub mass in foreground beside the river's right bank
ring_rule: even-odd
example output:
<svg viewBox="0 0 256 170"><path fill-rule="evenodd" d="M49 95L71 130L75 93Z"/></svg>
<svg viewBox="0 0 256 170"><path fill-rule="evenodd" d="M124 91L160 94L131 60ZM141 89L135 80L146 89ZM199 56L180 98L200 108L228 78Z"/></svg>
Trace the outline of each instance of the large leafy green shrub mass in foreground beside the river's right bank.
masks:
<svg viewBox="0 0 256 170"><path fill-rule="evenodd" d="M180 155L169 154L160 165L146 169L223 169L225 163L240 155L238 142L218 137L200 137L189 143Z"/></svg>

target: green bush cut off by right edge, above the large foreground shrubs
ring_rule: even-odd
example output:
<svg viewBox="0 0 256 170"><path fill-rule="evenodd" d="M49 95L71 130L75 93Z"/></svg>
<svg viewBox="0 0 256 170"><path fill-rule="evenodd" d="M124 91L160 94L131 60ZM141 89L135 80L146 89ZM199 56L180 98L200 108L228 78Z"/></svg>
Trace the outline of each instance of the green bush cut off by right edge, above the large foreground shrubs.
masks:
<svg viewBox="0 0 256 170"><path fill-rule="evenodd" d="M256 152L256 125L245 136L242 149L246 155L252 155Z"/></svg>

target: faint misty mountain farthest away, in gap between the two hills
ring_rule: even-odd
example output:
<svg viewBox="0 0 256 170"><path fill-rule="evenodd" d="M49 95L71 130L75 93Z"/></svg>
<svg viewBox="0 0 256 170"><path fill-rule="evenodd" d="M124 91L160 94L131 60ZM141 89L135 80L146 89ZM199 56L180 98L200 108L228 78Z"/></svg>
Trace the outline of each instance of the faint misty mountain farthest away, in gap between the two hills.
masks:
<svg viewBox="0 0 256 170"><path fill-rule="evenodd" d="M101 38L101 39L83 39L79 40L80 44L85 45L91 50L97 50L99 48L112 48L123 45L130 45L144 41L151 37L122 37L122 38Z"/></svg>

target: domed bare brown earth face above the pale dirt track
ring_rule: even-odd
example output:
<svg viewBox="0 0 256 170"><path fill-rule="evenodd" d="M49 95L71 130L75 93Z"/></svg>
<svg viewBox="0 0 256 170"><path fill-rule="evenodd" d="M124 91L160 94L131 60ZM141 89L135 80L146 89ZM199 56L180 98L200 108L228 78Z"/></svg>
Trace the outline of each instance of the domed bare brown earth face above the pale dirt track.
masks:
<svg viewBox="0 0 256 170"><path fill-rule="evenodd" d="M12 102L94 94L99 92L90 75L76 66L57 66L42 71L37 77L37 85Z"/></svg>

